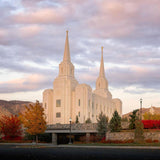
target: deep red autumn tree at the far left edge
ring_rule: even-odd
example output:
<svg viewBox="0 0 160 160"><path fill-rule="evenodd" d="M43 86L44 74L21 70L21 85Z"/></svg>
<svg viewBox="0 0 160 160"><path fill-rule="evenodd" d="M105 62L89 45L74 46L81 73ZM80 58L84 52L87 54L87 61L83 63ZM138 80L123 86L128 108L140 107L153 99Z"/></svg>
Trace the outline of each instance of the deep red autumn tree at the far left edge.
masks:
<svg viewBox="0 0 160 160"><path fill-rule="evenodd" d="M4 135L4 139L20 139L22 135L20 119L16 115L2 116L0 120L0 131Z"/></svg>

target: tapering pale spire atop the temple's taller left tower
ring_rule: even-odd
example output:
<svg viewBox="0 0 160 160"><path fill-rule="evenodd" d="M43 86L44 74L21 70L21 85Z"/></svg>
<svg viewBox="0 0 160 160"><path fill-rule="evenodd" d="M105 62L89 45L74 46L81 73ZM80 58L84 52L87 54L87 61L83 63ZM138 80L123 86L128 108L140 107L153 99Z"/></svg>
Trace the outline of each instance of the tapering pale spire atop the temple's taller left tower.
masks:
<svg viewBox="0 0 160 160"><path fill-rule="evenodd" d="M66 42L65 42L63 61L70 61L68 30L66 31Z"/></svg>

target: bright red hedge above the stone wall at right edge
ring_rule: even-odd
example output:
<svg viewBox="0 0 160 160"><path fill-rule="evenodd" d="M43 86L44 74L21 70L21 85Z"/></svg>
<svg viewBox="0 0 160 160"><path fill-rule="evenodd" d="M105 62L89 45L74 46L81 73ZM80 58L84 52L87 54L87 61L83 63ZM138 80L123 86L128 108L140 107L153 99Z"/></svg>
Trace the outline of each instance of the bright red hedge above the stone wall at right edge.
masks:
<svg viewBox="0 0 160 160"><path fill-rule="evenodd" d="M144 129L160 129L160 120L142 120Z"/></svg>

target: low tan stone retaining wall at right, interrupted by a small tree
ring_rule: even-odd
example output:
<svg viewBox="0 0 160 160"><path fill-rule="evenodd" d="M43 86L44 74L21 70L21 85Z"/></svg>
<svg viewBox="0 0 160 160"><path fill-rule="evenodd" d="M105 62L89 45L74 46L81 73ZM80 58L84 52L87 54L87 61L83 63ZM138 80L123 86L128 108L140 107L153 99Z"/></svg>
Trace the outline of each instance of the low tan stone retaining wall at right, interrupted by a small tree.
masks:
<svg viewBox="0 0 160 160"><path fill-rule="evenodd" d="M158 140L160 141L160 132L144 132L145 140L150 139L152 141ZM107 132L106 140L119 140L119 141L127 141L134 139L134 131L133 132Z"/></svg>

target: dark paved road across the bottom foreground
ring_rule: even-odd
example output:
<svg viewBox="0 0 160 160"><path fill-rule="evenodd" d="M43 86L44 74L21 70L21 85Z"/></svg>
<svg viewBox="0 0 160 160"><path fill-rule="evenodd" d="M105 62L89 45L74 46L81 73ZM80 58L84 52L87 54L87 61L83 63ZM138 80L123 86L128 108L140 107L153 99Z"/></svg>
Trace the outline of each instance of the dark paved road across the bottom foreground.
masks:
<svg viewBox="0 0 160 160"><path fill-rule="evenodd" d="M1 145L0 160L160 160L159 149L70 148Z"/></svg>

